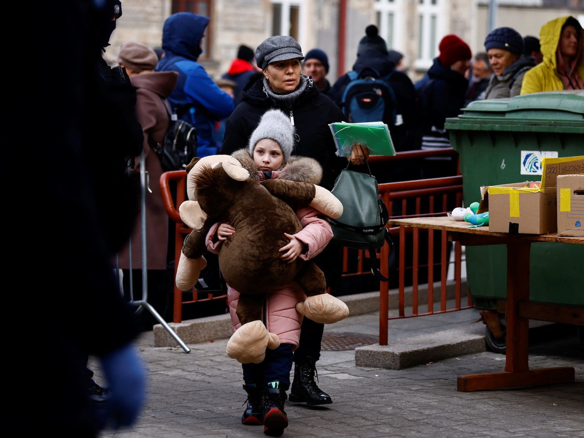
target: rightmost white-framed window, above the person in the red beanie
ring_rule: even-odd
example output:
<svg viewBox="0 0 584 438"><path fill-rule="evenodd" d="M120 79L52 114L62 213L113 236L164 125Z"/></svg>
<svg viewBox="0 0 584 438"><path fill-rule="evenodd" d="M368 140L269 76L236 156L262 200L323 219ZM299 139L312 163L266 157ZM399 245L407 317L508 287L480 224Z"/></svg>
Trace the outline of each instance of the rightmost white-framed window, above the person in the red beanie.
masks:
<svg viewBox="0 0 584 438"><path fill-rule="evenodd" d="M418 59L416 68L427 69L438 56L442 35L442 3L444 0L418 0Z"/></svg>

